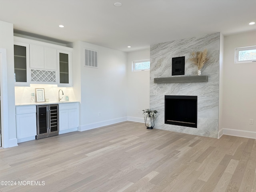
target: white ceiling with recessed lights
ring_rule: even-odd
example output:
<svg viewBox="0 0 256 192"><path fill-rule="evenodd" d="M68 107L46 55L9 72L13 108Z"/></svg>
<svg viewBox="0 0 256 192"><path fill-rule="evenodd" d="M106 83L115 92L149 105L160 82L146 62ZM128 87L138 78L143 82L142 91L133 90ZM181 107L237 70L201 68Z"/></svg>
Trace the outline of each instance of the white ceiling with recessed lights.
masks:
<svg viewBox="0 0 256 192"><path fill-rule="evenodd" d="M0 0L0 20L15 30L130 52L214 32L256 30L248 25L256 22L255 8L256 0Z"/></svg>

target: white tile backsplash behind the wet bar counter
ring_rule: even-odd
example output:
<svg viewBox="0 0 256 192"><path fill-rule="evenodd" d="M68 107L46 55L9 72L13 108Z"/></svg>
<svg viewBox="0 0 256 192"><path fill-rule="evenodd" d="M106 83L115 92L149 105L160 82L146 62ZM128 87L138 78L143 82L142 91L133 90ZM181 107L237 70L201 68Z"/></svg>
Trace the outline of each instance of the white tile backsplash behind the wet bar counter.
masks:
<svg viewBox="0 0 256 192"><path fill-rule="evenodd" d="M72 87L57 87L57 85L49 84L30 84L29 87L15 87L15 103L30 103L31 94L35 93L35 88L44 88L45 98L48 98L49 102L58 101L58 92L60 89L64 93L63 99L65 99L65 96L68 96L69 101L76 101Z"/></svg>

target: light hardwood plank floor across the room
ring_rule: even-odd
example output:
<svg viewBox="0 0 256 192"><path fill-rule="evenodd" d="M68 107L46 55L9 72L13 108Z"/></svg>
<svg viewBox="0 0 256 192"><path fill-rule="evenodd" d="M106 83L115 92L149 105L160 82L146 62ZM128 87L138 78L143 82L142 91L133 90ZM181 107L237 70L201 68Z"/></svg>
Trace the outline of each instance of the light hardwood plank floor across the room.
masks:
<svg viewBox="0 0 256 192"><path fill-rule="evenodd" d="M136 122L0 149L0 181L16 181L1 192L256 192L255 170L254 139L147 130Z"/></svg>

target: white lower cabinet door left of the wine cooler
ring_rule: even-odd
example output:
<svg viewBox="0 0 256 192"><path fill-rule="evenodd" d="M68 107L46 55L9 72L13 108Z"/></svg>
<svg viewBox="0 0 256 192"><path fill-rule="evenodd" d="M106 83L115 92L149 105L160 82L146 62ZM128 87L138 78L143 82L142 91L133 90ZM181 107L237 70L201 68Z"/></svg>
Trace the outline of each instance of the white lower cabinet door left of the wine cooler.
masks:
<svg viewBox="0 0 256 192"><path fill-rule="evenodd" d="M17 139L36 136L36 113L16 115Z"/></svg>

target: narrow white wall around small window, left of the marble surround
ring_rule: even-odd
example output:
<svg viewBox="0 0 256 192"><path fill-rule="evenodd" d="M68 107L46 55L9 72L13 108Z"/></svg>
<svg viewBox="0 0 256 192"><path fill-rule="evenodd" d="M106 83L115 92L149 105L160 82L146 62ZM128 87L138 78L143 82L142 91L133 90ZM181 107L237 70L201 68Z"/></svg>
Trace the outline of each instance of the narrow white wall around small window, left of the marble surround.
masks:
<svg viewBox="0 0 256 192"><path fill-rule="evenodd" d="M144 122L142 110L149 108L150 70L132 71L132 62L150 59L150 49L127 54L127 116L128 120Z"/></svg>

